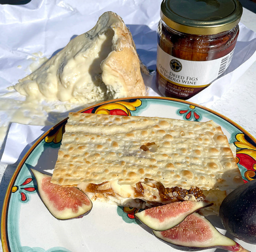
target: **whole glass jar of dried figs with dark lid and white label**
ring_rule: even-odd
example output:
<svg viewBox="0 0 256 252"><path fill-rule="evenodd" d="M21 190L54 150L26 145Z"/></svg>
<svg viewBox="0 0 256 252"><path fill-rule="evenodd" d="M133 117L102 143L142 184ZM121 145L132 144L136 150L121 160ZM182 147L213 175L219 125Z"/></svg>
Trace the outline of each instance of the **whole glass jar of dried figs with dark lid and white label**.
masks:
<svg viewBox="0 0 256 252"><path fill-rule="evenodd" d="M242 12L237 0L163 0L156 76L161 95L186 100L225 72Z"/></svg>

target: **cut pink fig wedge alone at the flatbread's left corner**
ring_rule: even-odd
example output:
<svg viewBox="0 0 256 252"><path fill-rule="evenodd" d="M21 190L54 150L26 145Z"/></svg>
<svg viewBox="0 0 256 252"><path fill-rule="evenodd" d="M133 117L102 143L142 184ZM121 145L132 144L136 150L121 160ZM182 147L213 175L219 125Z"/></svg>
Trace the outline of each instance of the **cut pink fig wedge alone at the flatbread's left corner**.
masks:
<svg viewBox="0 0 256 252"><path fill-rule="evenodd" d="M51 176L31 169L38 193L49 212L57 219L73 219L84 216L92 209L92 202L76 187L62 187L50 182Z"/></svg>

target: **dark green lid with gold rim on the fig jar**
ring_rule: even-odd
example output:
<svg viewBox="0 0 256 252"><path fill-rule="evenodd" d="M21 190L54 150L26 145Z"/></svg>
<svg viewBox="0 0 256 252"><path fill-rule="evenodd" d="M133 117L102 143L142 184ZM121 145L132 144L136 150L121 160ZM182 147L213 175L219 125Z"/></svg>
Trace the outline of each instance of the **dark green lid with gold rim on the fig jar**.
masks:
<svg viewBox="0 0 256 252"><path fill-rule="evenodd" d="M213 35L234 28L242 13L238 0L163 0L160 15L176 31Z"/></svg>

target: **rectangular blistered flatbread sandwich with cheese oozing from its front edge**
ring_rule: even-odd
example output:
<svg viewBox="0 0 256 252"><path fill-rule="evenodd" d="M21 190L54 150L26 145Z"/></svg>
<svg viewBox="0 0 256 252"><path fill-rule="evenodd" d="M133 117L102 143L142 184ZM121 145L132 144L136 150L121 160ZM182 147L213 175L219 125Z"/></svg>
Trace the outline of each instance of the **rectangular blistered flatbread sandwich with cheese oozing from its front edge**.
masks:
<svg viewBox="0 0 256 252"><path fill-rule="evenodd" d="M243 184L228 139L212 120L86 113L69 114L51 182L120 205L161 202L158 183L220 191Z"/></svg>

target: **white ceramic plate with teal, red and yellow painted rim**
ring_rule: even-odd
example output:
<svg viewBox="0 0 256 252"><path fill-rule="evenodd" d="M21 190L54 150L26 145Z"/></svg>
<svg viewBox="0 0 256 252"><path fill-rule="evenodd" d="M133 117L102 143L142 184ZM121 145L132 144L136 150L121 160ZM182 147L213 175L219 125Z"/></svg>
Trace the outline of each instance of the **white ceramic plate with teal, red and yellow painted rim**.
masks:
<svg viewBox="0 0 256 252"><path fill-rule="evenodd" d="M256 177L256 139L228 118L207 108L169 98L135 97L108 101L80 112L214 120L222 127L229 142L236 146L237 164L243 179L248 181ZM2 211L3 251L175 252L134 218L134 208L94 203L92 211L83 218L61 221L51 216L37 194L30 168L52 173L65 123L63 120L37 140L12 177ZM225 233L218 217L213 217L212 221L220 232ZM256 251L255 245L240 243L248 250Z"/></svg>

